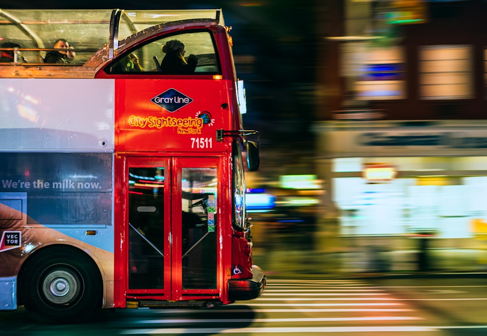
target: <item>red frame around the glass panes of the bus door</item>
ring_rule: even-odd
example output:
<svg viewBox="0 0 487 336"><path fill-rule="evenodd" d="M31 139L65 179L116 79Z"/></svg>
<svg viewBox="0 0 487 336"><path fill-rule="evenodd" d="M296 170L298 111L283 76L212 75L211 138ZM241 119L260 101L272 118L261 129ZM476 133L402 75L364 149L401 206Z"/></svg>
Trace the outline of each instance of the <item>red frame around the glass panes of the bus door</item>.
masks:
<svg viewBox="0 0 487 336"><path fill-rule="evenodd" d="M228 229L225 228L226 221L231 220L231 215L228 211L231 207L227 207L228 202L231 202L228 194L228 185L231 184L231 174L229 164L230 161L225 157L154 157L154 156L124 156L115 159L115 172L123 172L123 174L115 174L115 185L123 186L120 193L115 193L115 223L125 225L117 225L115 230L116 236L121 237L120 248L121 253L115 252L115 306L124 307L126 298L131 299L155 299L162 301L184 301L184 300L202 300L202 299L220 299L228 303L227 288L225 288L225 279L229 278L229 271L225 267L227 263L231 263L231 237L225 234ZM171 223L171 225L164 225L164 234L168 244L164 247L164 255L168 263L164 264L164 289L143 289L135 290L128 288L128 215L129 215L129 167L164 167L165 168L165 187L164 187L164 223ZM181 175L182 168L195 167L217 168L217 286L216 289L183 289L182 288L182 244L181 226L173 226L172 223L181 223L182 211L182 184ZM122 177L123 176L123 177ZM118 177L118 178L117 178ZM223 189L222 189L223 188ZM117 188L118 189L118 188ZM119 189L120 190L120 189ZM118 197L120 196L120 197ZM118 199L118 201L117 201ZM119 212L120 211L120 212ZM117 215L121 213L120 215ZM123 215L122 215L123 214ZM123 217L123 218L120 218ZM171 222L172 221L172 222ZM121 229L124 228L124 229ZM173 230L171 230L174 228ZM227 250L230 253L224 253ZM117 251L117 247L115 247ZM227 274L228 273L228 274ZM118 276L117 276L118 274ZM117 285L118 283L118 285ZM118 288L118 290L117 290ZM123 293L123 294L122 294Z"/></svg>

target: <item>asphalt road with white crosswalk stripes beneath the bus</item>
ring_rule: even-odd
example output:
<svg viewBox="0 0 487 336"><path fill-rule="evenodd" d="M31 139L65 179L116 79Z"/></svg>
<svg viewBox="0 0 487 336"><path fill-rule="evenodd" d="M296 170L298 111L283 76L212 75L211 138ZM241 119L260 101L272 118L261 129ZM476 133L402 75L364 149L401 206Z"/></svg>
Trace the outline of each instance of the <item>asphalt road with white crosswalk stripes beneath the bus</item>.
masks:
<svg viewBox="0 0 487 336"><path fill-rule="evenodd" d="M487 335L487 279L275 279L265 293L215 309L104 311L76 325L0 312L2 336Z"/></svg>

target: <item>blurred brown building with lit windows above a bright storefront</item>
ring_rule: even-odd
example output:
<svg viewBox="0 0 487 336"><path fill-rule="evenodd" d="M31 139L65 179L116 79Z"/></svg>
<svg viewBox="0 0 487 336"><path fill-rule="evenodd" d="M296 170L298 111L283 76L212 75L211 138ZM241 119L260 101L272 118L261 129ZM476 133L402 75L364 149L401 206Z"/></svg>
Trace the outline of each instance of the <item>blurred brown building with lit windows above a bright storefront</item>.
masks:
<svg viewBox="0 0 487 336"><path fill-rule="evenodd" d="M318 248L374 246L397 270L486 269L487 1L329 0L317 13Z"/></svg>

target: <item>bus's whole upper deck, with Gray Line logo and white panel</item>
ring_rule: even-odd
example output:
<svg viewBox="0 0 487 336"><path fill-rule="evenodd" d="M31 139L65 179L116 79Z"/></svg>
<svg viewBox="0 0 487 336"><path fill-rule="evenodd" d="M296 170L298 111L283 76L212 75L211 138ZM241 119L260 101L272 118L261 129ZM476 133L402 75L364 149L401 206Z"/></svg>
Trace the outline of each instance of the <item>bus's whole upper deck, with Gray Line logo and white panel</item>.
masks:
<svg viewBox="0 0 487 336"><path fill-rule="evenodd" d="M0 59L0 151L222 153L248 133L219 9L0 10L0 38L20 45ZM75 57L49 63L59 38ZM162 69L176 39L191 71Z"/></svg>

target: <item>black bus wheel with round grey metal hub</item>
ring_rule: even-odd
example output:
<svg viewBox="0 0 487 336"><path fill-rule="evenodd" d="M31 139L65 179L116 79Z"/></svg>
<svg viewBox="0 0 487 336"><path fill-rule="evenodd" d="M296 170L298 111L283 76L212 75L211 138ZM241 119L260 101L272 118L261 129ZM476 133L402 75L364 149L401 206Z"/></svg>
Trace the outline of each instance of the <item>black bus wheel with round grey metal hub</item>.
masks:
<svg viewBox="0 0 487 336"><path fill-rule="evenodd" d="M21 272L19 293L39 322L74 323L101 307L101 276L94 261L69 247L39 251Z"/></svg>

